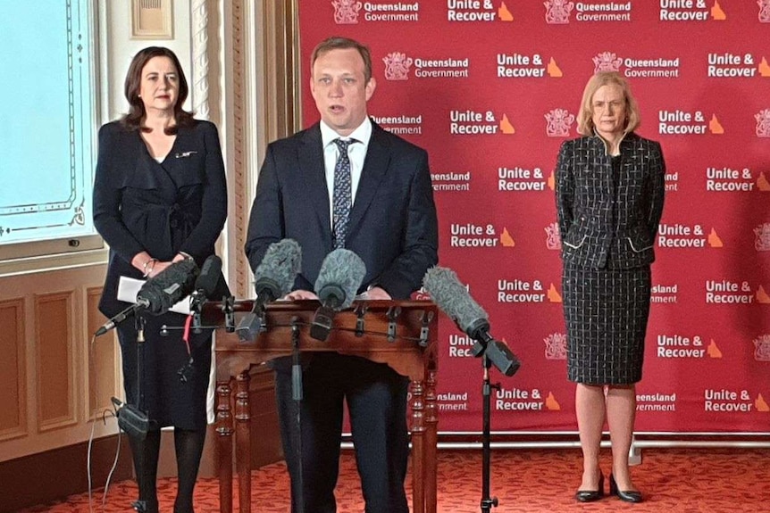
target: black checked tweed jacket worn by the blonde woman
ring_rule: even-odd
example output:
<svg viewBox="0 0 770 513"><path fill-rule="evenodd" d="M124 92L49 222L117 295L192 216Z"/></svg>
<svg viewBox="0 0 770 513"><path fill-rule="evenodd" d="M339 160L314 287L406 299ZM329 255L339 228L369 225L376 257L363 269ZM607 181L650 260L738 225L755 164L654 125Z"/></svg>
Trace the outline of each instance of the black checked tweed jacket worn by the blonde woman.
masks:
<svg viewBox="0 0 770 513"><path fill-rule="evenodd" d="M620 172L601 137L566 141L556 194L562 258L593 269L631 269L655 260L663 213L665 161L660 145L634 133L620 144Z"/></svg>

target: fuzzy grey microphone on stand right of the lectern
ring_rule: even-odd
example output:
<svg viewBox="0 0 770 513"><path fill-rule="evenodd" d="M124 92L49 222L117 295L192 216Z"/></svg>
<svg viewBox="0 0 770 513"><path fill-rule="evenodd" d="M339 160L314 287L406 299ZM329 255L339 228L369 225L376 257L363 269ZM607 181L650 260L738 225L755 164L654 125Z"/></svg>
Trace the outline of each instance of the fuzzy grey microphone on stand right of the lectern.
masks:
<svg viewBox="0 0 770 513"><path fill-rule="evenodd" d="M465 285L457 279L455 271L433 267L423 277L423 287L431 294L441 311L455 321L457 327L473 338L473 356L485 354L506 376L513 376L521 366L505 343L490 335L490 319L487 312L473 301Z"/></svg>

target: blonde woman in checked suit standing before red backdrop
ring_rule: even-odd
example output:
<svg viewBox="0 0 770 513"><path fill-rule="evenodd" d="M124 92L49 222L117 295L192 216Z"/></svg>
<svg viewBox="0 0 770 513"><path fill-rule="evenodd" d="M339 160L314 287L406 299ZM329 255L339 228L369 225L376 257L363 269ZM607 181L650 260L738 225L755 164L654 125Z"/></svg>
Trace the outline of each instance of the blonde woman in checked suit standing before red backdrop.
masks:
<svg viewBox="0 0 770 513"><path fill-rule="evenodd" d="M578 115L583 137L566 141L557 163L557 212L567 326L568 377L583 453L577 501L604 494L599 445L605 418L612 443L610 493L639 502L628 467L641 379L650 263L663 211L660 145L639 137L639 108L626 80L589 80Z"/></svg>

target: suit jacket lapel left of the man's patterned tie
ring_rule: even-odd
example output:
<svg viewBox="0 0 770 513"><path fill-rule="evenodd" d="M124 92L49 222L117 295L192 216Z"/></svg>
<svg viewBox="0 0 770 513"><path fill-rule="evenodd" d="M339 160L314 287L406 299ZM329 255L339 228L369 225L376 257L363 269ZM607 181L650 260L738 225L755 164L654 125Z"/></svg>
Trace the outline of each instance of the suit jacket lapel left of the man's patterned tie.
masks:
<svg viewBox="0 0 770 513"><path fill-rule="evenodd" d="M299 176L305 181L305 192L313 205L321 226L331 244L331 217L329 214L329 189L323 164L321 128L316 123L305 131L298 150Z"/></svg>

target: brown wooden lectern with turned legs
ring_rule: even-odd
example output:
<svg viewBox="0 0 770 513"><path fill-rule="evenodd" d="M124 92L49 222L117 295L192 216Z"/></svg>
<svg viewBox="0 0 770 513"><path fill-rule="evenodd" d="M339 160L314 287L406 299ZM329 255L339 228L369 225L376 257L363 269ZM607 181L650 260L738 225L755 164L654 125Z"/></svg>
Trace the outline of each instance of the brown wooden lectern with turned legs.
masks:
<svg viewBox="0 0 770 513"><path fill-rule="evenodd" d="M335 351L361 356L387 363L399 374L411 379L412 511L436 513L436 425L439 420L436 404L436 306L429 301L356 302L352 308L337 313L326 342L310 336L310 326L318 306L317 301L277 302L268 305L264 330L255 341L241 342L239 335L224 330L216 334L220 511L232 512L233 456L239 476L239 511L251 511L248 369L252 365L292 354L296 341L301 352ZM239 302L235 310L251 309L252 302L246 301ZM233 377L234 399L230 385Z"/></svg>

